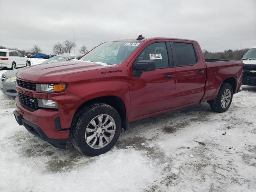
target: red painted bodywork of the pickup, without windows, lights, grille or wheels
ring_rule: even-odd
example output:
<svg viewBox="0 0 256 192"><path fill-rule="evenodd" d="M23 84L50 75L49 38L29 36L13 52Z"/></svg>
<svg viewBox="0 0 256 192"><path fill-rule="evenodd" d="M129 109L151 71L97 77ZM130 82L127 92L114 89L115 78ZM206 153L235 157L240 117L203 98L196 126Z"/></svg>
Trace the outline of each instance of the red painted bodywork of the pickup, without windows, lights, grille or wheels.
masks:
<svg viewBox="0 0 256 192"><path fill-rule="evenodd" d="M134 41L134 40L132 40ZM133 76L132 64L139 54L154 42L188 42L194 44L198 62L192 66L170 66ZM198 71L204 71L198 74ZM110 72L114 71L114 72ZM165 78L173 74L173 78ZM67 139L69 131L57 131L54 119L60 118L62 129L70 128L78 108L102 96L116 96L124 102L128 122L213 100L220 85L227 78L236 80L236 92L241 86L243 64L241 61L204 62L198 42L171 38L151 38L140 46L120 65L104 66L82 61L40 64L23 68L17 78L32 83L67 83L65 92L46 94L22 88L18 92L34 98L54 100L58 110L32 111L22 106L16 98L17 112L22 118L39 126L52 139Z"/></svg>

